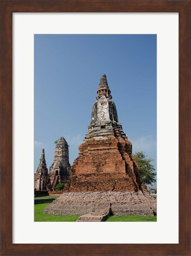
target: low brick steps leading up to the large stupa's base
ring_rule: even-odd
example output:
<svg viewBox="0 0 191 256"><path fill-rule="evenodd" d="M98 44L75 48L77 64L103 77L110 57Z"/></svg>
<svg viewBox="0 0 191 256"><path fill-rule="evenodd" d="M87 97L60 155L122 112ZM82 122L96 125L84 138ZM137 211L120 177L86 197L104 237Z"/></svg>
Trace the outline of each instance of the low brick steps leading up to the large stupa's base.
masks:
<svg viewBox="0 0 191 256"><path fill-rule="evenodd" d="M80 216L77 222L103 222L111 213L111 204L108 209L93 209L92 212Z"/></svg>

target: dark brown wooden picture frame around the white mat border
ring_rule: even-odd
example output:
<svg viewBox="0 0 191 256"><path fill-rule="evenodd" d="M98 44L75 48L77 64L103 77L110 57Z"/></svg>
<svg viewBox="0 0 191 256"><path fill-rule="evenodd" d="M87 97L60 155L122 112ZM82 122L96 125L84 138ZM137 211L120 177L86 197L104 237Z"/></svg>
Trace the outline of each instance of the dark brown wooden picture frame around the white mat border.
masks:
<svg viewBox="0 0 191 256"><path fill-rule="evenodd" d="M179 12L179 244L12 244L13 12ZM190 1L1 1L1 245L1 255L190 255Z"/></svg>

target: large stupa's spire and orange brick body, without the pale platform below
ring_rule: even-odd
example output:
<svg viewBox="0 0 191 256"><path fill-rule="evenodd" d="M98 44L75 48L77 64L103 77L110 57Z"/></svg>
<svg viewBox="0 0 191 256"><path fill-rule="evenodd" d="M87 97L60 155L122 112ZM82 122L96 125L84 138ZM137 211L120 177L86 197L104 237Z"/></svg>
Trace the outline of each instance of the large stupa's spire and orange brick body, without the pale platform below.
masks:
<svg viewBox="0 0 191 256"><path fill-rule="evenodd" d="M93 104L88 133L79 146L65 191L144 191L132 144L118 121L106 75Z"/></svg>

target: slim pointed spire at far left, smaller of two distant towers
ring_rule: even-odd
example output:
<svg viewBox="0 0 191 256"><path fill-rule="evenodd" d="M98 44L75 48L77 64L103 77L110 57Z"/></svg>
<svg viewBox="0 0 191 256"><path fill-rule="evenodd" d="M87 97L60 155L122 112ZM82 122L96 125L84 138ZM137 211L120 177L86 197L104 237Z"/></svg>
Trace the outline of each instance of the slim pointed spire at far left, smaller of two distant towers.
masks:
<svg viewBox="0 0 191 256"><path fill-rule="evenodd" d="M34 176L34 189L35 190L47 190L48 186L48 169L46 165L44 149L41 154L40 164L38 165L37 172Z"/></svg>

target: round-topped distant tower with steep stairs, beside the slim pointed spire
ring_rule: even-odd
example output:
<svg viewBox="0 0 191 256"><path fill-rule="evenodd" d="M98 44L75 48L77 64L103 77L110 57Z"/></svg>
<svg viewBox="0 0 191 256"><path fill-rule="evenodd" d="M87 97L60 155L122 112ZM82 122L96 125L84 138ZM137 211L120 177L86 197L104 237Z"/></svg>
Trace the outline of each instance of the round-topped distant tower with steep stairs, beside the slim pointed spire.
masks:
<svg viewBox="0 0 191 256"><path fill-rule="evenodd" d="M56 143L54 162L49 169L49 190L54 190L56 185L59 183L66 183L69 179L69 174L69 145L67 145L64 137L60 137Z"/></svg>

